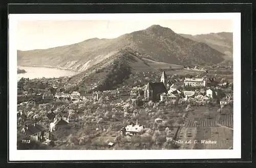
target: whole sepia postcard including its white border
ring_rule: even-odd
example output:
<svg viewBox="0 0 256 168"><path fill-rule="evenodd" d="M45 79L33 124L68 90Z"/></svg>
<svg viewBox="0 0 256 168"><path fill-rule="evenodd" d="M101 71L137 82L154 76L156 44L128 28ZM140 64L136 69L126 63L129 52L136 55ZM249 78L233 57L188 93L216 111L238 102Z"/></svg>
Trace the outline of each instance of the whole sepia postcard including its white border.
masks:
<svg viewBox="0 0 256 168"><path fill-rule="evenodd" d="M241 157L239 13L61 15L9 18L15 159Z"/></svg>

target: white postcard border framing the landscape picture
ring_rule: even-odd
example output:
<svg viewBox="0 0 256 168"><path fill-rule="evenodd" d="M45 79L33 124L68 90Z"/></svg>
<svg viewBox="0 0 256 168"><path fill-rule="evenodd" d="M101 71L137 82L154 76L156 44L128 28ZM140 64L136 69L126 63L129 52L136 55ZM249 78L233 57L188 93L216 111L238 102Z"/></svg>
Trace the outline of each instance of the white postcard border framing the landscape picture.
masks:
<svg viewBox="0 0 256 168"><path fill-rule="evenodd" d="M17 150L17 21L18 20L165 20L232 19L233 149L232 150ZM218 25L217 25L218 26ZM147 160L241 158L241 14L10 14L9 15L9 160Z"/></svg>

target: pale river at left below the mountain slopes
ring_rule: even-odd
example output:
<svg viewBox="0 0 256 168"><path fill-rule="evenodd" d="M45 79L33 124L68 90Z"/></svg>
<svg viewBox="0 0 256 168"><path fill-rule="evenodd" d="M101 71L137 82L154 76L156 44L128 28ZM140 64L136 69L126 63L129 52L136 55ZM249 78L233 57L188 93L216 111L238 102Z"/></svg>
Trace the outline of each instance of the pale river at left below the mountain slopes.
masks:
<svg viewBox="0 0 256 168"><path fill-rule="evenodd" d="M19 69L24 69L26 73L17 74L18 80L22 77L25 78L52 78L52 77L60 77L60 76L73 76L79 72L63 70L63 69L54 69L54 68L46 68L46 67L22 67L18 66Z"/></svg>

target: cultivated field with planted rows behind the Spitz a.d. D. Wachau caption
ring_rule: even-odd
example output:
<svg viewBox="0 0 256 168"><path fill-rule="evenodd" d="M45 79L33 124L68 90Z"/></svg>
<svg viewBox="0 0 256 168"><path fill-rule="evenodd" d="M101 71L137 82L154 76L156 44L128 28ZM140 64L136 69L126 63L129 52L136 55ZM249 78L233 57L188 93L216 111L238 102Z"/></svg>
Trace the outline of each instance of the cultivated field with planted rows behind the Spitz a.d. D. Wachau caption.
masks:
<svg viewBox="0 0 256 168"><path fill-rule="evenodd" d="M219 114L218 108L217 106L207 110L206 107L199 107L189 113L184 127L178 132L177 140L183 141L179 149L229 149L233 147L232 110L224 108L224 112ZM209 114L210 117L205 117L205 114ZM185 143L189 140L191 143ZM198 144L194 143L195 140ZM212 143L206 144L207 141Z"/></svg>

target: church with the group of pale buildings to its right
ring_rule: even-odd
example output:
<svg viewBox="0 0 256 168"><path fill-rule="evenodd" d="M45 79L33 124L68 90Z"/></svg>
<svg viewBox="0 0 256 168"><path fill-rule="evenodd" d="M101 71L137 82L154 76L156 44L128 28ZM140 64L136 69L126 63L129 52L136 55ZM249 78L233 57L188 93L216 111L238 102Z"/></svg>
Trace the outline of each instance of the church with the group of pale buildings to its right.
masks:
<svg viewBox="0 0 256 168"><path fill-rule="evenodd" d="M210 79L213 80L213 79ZM185 78L181 80L167 81L166 74L163 71L160 82L149 82L144 88L144 101L170 101L183 98L207 97L209 99L218 99L220 103L227 104L232 99L231 96L224 97L219 89L207 89L207 83L211 81L207 78ZM198 90L185 90L185 87L195 87ZM224 97L224 98L223 98Z"/></svg>

